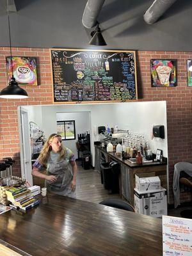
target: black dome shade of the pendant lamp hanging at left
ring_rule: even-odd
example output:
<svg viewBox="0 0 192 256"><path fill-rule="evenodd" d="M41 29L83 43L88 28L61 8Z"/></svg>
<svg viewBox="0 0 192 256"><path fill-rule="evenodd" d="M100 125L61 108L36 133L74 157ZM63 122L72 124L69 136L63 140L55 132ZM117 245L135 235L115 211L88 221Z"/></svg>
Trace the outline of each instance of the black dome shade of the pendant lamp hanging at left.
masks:
<svg viewBox="0 0 192 256"><path fill-rule="evenodd" d="M28 93L20 88L18 83L15 81L15 77L12 76L12 79L6 88L1 90L0 98L4 99L26 99L28 98Z"/></svg>

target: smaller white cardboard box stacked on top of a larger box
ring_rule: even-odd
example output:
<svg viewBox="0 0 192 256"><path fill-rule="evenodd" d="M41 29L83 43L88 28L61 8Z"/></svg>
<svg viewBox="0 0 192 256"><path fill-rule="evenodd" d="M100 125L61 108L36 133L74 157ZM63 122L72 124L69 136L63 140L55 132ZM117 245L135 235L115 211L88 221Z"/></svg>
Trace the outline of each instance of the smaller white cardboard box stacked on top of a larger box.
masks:
<svg viewBox="0 0 192 256"><path fill-rule="evenodd" d="M136 189L140 192L150 192L161 189L161 180L156 173L137 173L135 175Z"/></svg>

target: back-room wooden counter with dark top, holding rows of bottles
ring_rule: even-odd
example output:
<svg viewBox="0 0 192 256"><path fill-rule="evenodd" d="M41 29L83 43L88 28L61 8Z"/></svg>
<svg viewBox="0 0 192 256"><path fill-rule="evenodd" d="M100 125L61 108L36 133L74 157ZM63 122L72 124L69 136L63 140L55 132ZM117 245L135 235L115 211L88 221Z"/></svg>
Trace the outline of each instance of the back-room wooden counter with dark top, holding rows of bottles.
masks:
<svg viewBox="0 0 192 256"><path fill-rule="evenodd" d="M135 188L135 174L136 173L155 173L161 180L161 186L167 189L166 179L166 158L163 162L136 164L130 161L123 160L122 157L116 157L114 152L107 152L105 148L95 145L95 168L99 167L101 153L105 156L106 161L111 160L120 163L120 195L127 201L134 205L134 188ZM99 168L100 170L100 168Z"/></svg>

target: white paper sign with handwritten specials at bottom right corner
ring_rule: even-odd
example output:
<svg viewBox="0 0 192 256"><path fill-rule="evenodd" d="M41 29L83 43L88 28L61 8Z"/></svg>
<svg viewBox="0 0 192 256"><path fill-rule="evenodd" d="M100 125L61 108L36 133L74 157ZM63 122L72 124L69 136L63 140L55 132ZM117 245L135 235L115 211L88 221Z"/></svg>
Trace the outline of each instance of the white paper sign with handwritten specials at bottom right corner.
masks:
<svg viewBox="0 0 192 256"><path fill-rule="evenodd" d="M192 255L192 220L163 216L163 256Z"/></svg>

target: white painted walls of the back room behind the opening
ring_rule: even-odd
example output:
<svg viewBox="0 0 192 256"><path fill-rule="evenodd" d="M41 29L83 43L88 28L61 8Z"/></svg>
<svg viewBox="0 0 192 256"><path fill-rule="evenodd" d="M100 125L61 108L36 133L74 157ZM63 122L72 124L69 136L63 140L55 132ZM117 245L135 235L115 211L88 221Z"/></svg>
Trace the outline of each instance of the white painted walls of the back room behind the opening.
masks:
<svg viewBox="0 0 192 256"><path fill-rule="evenodd" d="M25 106L25 108L31 108L31 106ZM93 166L95 164L95 148L93 142L98 140L98 133L94 135L94 127L100 125L109 125L109 127L118 125L120 129L130 129L134 132L142 132L148 137L148 143L154 153L156 153L157 148L163 149L163 156L168 157L165 101L82 105L66 104L33 106L32 108L34 108L35 113L38 113L40 109L42 111L42 130L44 131L45 137L56 132L56 113L68 113L69 116L72 116L72 113L79 113L80 115L80 113L90 112L90 138ZM33 118L35 118L35 116L36 115L33 115ZM70 120L72 120L72 118L70 118ZM164 125L165 139L152 140L152 126L160 124ZM85 129L85 131L86 130L88 130L88 128Z"/></svg>

